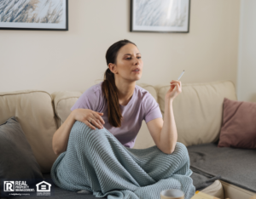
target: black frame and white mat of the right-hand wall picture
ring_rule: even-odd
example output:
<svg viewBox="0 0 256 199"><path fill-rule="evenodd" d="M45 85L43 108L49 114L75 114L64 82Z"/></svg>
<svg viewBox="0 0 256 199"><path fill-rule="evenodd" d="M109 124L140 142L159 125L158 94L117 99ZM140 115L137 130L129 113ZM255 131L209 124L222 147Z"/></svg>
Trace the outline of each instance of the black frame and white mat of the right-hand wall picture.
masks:
<svg viewBox="0 0 256 199"><path fill-rule="evenodd" d="M187 20L186 20L186 30L185 31L181 31L181 30L164 30L164 29L168 29L167 27L164 27L164 26L141 26L141 28L138 28L138 26L135 26L135 9L136 9L136 3L137 3L137 0L130 0L131 3L131 9L130 9L130 31L134 31L134 32L159 32L159 33L189 33L189 18L190 18L190 3L191 3L191 0L178 0L178 1L187 1ZM157 1L158 3L160 3L159 0L155 0ZM153 4L153 3L152 3ZM152 8L154 9L154 8ZM170 13L170 12L169 12ZM148 19L148 18L147 18ZM167 20L166 20L167 21ZM155 29L158 29L158 30L154 30ZM172 29L172 28L170 28ZM174 28L173 28L174 29ZM176 28L178 29L178 28Z"/></svg>

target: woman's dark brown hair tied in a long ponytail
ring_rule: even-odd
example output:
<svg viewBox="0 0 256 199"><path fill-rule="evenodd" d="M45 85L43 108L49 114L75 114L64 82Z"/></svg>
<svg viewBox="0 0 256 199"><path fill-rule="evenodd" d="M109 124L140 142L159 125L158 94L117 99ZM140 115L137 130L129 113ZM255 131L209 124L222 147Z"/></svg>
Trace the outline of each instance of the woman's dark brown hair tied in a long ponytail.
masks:
<svg viewBox="0 0 256 199"><path fill-rule="evenodd" d="M119 48L125 46L127 43L131 43L131 41L127 39L120 40L117 43L113 43L113 45L108 48L106 53L107 65L109 63L116 64ZM132 44L136 46L135 43ZM108 122L115 128L121 127L123 116L119 107L118 88L115 85L114 74L109 68L104 73L102 92L108 101Z"/></svg>

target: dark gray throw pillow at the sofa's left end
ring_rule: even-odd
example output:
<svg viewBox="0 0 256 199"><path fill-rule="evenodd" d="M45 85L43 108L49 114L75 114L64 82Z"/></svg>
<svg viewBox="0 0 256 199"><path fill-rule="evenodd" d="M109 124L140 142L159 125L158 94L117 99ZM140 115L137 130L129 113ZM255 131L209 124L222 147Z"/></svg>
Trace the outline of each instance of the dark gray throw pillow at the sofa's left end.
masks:
<svg viewBox="0 0 256 199"><path fill-rule="evenodd" d="M31 145L15 117L0 125L0 179L24 179L27 185L44 180Z"/></svg>

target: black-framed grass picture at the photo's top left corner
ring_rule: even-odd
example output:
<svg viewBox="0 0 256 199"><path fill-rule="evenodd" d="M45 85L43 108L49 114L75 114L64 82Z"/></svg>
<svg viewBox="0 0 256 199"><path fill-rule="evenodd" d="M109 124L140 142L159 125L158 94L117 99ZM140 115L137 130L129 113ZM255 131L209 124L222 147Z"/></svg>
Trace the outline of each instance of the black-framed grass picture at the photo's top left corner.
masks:
<svg viewBox="0 0 256 199"><path fill-rule="evenodd" d="M0 0L0 30L68 31L67 0Z"/></svg>

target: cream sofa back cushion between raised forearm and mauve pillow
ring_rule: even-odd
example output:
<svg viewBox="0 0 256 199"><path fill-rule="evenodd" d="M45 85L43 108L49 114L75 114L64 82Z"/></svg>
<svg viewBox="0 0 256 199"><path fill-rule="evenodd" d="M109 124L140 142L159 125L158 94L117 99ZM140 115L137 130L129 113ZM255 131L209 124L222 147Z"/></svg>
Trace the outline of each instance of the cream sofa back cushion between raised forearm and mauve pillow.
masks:
<svg viewBox="0 0 256 199"><path fill-rule="evenodd" d="M165 117L165 95L170 85L158 86L160 110ZM231 81L184 83L182 93L173 100L177 141L186 146L218 140L224 98L236 100ZM163 118L165 121L165 118Z"/></svg>

